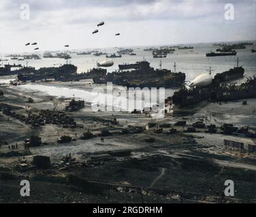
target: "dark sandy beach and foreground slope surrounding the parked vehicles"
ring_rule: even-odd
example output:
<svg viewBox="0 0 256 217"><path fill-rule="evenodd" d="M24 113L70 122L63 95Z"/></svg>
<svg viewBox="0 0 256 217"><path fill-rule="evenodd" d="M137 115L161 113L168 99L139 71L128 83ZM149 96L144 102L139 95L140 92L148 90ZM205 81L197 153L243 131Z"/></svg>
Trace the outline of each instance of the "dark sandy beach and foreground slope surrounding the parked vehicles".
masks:
<svg viewBox="0 0 256 217"><path fill-rule="evenodd" d="M42 83L39 84L42 85ZM85 83L53 82L47 83L47 85L86 91L92 88ZM38 90L31 91L23 87L0 88L5 94L5 97L0 99L0 105L8 104L19 114L27 114L29 111L37 113L40 109L53 110L54 108L61 111L72 97L72 95L67 95L66 98L49 96L46 92L43 94ZM172 90L170 91L172 92ZM29 104L27 102L29 98L33 98L35 102ZM144 114L132 115L131 113L117 112L114 113L114 117L119 121L118 125L106 125L95 121L93 117L110 120L113 113L95 113L87 104L78 112L67 113L74 117L78 125L83 126L83 128L77 127L76 129L66 129L61 125L52 124L31 127L31 125L0 113L0 136L1 141L6 141L9 144L18 142L18 150L15 151L20 153L24 152L23 141L32 135L42 137L42 141L48 144L31 148L30 153L24 153L29 164L33 156L45 155L50 157L53 165L48 172L35 169L29 172L29 178L35 182L33 185L35 195L31 197L31 202L141 202L141 193L138 191L138 187L142 187L144 199L148 202L219 203L225 180L232 179L237 186L236 197L226 198L223 202L255 203L255 156L225 149L223 140L227 136L223 134L205 134L204 130L191 134L185 133L182 127L176 127L179 133L168 135L166 132L169 128L163 129L163 134L156 134L155 128L150 128L140 134L119 135L114 133L113 136L104 138L104 142L101 142L100 137L80 140L80 136L87 130L95 134L103 129L118 132L128 125L146 127L150 121L155 121L158 124L170 123L174 127L173 124L176 121L186 120L186 130L195 121L203 119L207 124L214 123L219 127L222 123L234 123L239 126L251 125L251 130L255 130L256 117L251 113L251 109L256 101L255 99L247 100L247 106L243 106L242 101L221 105L202 104L178 111L174 115L167 114L164 119L155 120ZM69 135L76 138L77 141L57 144L57 140L62 135ZM146 139L150 137L155 138L155 142L146 142ZM131 155L111 157L108 161L100 159L97 164L89 164L94 155L109 155L110 151L118 150L129 150ZM2 144L0 153L9 152L8 147ZM69 153L76 158L74 166L61 163L63 155ZM16 171L14 168L17 164L18 157L0 157L0 169L13 171L16 182L18 175L28 175L28 172ZM71 181L70 175L97 186L104 186L105 189L110 188L112 198L106 199L105 191L102 191L97 197L95 194L91 195L83 186L78 185L78 182ZM1 180L5 189L9 189L13 193L11 197L4 197L4 194L1 194L0 202L24 202L15 194L16 182ZM48 191L52 186L56 187L56 191L44 195L43 192ZM75 188L73 193L69 191L70 186ZM3 191L3 188L0 190ZM61 192L64 192L65 195L61 195ZM55 196L59 198L55 198Z"/></svg>

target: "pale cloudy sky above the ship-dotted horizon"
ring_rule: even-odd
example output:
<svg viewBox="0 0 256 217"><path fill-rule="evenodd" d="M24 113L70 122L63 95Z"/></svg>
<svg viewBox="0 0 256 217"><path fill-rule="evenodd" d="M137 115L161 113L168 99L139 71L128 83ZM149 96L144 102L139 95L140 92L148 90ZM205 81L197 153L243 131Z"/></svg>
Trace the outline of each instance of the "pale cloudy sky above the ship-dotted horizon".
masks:
<svg viewBox="0 0 256 217"><path fill-rule="evenodd" d="M0 53L255 40L256 0L1 0L0 33Z"/></svg>

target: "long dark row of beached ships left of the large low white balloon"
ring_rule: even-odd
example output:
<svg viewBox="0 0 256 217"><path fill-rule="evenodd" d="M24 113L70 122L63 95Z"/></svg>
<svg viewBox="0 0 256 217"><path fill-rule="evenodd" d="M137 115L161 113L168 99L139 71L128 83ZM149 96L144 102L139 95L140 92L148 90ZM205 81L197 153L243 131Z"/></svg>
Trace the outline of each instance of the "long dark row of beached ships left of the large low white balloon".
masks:
<svg viewBox="0 0 256 217"><path fill-rule="evenodd" d="M12 68L17 68L12 70ZM73 64L59 67L39 68L22 67L21 65L5 65L0 68L1 75L17 75L18 81L80 81L93 79L94 83L112 82L126 87L180 87L185 82L185 73L174 73L167 69L155 69L146 61L135 64L121 64L119 71L107 73L104 68L92 68L87 73L77 73Z"/></svg>

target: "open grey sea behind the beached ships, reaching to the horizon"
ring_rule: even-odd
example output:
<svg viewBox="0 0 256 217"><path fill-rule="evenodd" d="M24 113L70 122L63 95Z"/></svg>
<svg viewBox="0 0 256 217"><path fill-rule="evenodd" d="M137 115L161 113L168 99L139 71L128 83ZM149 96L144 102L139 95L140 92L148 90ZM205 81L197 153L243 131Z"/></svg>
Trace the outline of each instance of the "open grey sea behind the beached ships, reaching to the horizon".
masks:
<svg viewBox="0 0 256 217"><path fill-rule="evenodd" d="M162 68L171 69L174 71L174 62L176 62L176 71L186 73L187 80L192 80L202 73L206 73L212 69L212 75L216 73L222 73L223 71L229 70L236 65L236 60L239 58L239 64L245 69L244 76L253 76L256 73L256 53L252 53L253 45L247 45L245 50L236 50L238 52L237 56L216 56L216 57L206 57L206 53L214 52L218 47L213 46L212 43L197 43L190 44L194 47L193 50L178 50L174 54L168 54L167 58L153 58L152 51L144 51L148 47L123 47L133 49L133 53L136 56L123 55L122 58L113 58L114 66L108 68L108 73L118 70L118 64L123 63L134 63L136 61L141 61L143 59L150 62L150 66L154 68L159 68L160 60ZM254 43L256 47L256 42ZM109 48L109 49L97 49L99 52L114 54L119 49ZM87 52L90 50L80 50L79 52ZM106 60L106 56L96 57L93 55L83 55L78 56L74 54L74 50L71 50L71 59L68 62L78 66L78 73L89 71L91 68L97 67L97 62ZM39 54L43 56L41 52L34 52L34 54ZM35 68L49 67L49 66L59 66L60 64L65 64L67 61L59 58L42 58L42 60L10 60L4 55L0 56L0 59L9 59L10 64L22 64L33 66ZM0 62L0 64L6 64L7 62ZM244 79L241 79L243 81Z"/></svg>

